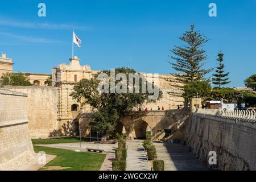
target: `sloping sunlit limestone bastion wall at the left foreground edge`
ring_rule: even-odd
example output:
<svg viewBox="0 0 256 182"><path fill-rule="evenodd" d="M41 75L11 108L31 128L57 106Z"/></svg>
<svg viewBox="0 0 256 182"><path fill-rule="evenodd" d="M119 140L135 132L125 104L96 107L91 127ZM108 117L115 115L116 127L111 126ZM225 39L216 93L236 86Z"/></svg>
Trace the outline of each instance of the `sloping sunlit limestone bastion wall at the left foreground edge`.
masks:
<svg viewBox="0 0 256 182"><path fill-rule="evenodd" d="M0 170L26 166L34 159L27 118L27 95L0 89Z"/></svg>

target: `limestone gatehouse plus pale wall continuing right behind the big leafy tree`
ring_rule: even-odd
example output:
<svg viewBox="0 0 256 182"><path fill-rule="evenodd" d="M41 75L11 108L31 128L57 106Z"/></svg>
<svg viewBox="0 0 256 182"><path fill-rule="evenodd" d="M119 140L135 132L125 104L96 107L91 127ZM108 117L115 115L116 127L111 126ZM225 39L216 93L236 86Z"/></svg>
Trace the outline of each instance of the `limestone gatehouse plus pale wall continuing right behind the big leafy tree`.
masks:
<svg viewBox="0 0 256 182"><path fill-rule="evenodd" d="M83 78L90 79L95 76L100 71L93 71L89 65L80 65L80 59L76 56L73 59L69 59L69 64L59 64L57 67L52 68L52 86L58 88L57 94L57 106L58 114L57 120L60 129L65 135L79 134L79 128L81 123L79 123L79 118L77 115L80 110L81 113L89 113L92 108L89 105L81 106L79 102L73 100L71 92L73 92L73 86L77 84ZM146 79L152 81L152 74L144 73ZM179 93L179 84L175 81L175 77L172 75L159 75L158 76L158 86L163 92L163 98L155 103L143 104L134 108L134 110L139 110L141 107L144 110L146 107L148 110L157 110L158 106L162 109L177 109L177 105L183 106L183 98L170 96L170 92ZM153 78L154 80L155 78ZM74 128L75 127L75 128Z"/></svg>

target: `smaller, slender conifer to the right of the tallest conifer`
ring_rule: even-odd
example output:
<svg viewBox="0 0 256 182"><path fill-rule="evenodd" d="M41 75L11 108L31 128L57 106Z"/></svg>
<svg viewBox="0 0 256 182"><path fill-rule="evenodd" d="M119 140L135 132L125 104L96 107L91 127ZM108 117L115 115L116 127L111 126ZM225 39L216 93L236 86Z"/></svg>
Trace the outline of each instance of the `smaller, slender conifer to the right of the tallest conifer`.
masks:
<svg viewBox="0 0 256 182"><path fill-rule="evenodd" d="M219 62L218 63L218 67L216 67L216 73L213 74L213 84L214 85L217 85L216 88L221 88L222 85L226 85L226 84L229 84L230 81L229 78L225 78L226 76L229 75L229 72L228 73L224 73L224 67L225 65L222 63L223 62L223 56L224 56L224 53L221 53L219 52L218 53L218 59L217 61Z"/></svg>

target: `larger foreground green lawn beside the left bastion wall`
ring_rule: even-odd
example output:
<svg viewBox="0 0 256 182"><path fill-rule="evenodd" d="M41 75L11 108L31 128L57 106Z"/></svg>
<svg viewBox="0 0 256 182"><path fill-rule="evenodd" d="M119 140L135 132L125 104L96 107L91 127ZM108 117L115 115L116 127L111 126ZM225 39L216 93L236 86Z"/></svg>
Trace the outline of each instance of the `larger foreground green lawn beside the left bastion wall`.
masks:
<svg viewBox="0 0 256 182"><path fill-rule="evenodd" d="M34 146L35 152L44 151L46 154L57 155L55 159L47 163L47 166L71 167L61 171L98 171L106 157L105 154L94 154L89 152L75 152L60 148ZM40 168L39 170L44 170Z"/></svg>

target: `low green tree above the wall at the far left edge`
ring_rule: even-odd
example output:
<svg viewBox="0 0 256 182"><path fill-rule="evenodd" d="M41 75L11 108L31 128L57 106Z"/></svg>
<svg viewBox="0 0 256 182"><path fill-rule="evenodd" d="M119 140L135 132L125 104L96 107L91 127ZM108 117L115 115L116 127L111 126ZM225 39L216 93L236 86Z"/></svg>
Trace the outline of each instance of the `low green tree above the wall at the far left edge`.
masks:
<svg viewBox="0 0 256 182"><path fill-rule="evenodd" d="M5 85L13 86L30 86L30 82L27 80L27 77L24 73L4 73L0 78L0 86Z"/></svg>

